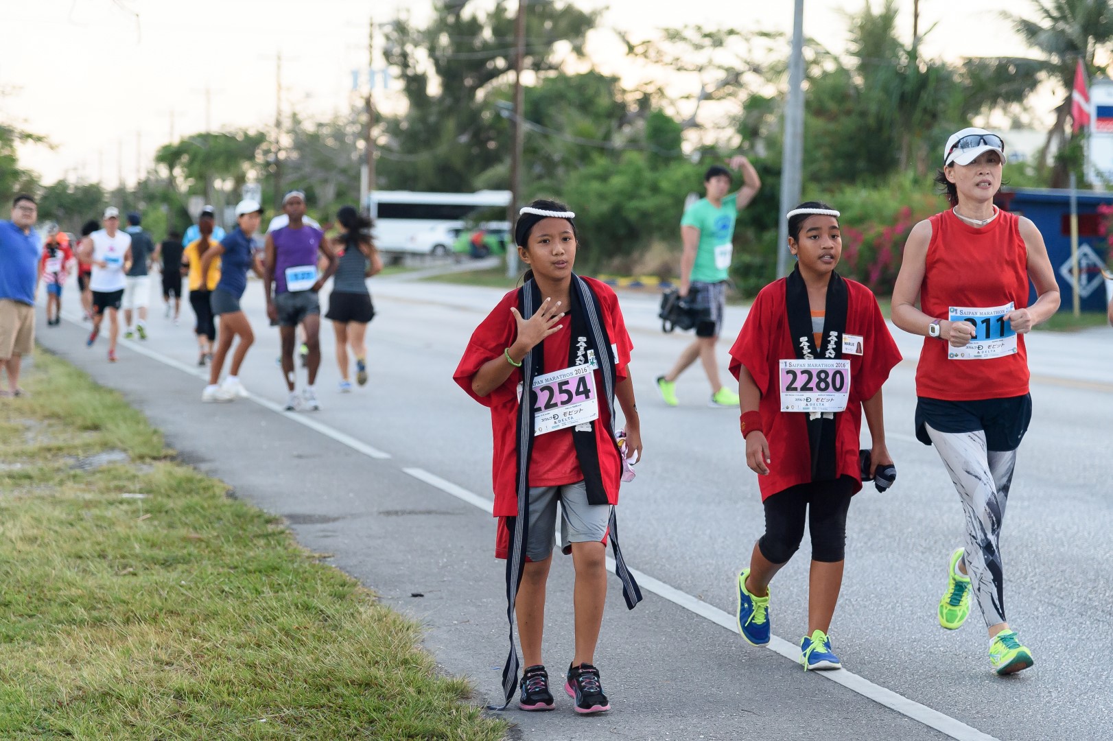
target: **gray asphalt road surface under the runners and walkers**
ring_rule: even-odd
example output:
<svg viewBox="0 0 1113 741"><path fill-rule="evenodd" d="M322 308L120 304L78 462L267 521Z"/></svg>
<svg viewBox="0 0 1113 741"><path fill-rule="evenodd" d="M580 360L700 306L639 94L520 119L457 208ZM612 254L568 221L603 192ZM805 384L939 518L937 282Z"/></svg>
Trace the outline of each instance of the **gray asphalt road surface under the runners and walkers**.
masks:
<svg viewBox="0 0 1113 741"><path fill-rule="evenodd" d="M38 335L46 348L122 391L184 457L237 495L285 515L308 549L332 554L336 566L422 620L444 670L471 676L477 700L495 702L506 626L493 521L442 488L466 490L480 504L490 500L489 416L451 376L501 292L400 278L375 278L371 286L378 310L367 337L371 382L351 395L335 391L334 343L324 327L318 413L276 411L285 399L275 365L278 333L263 316L258 281L245 296L256 345L242 378L259 404L200 403L204 382L196 377L186 303L181 325L174 326L156 298L150 338L125 344L115 365L106 360L105 339L85 347L87 325L47 327L40 313ZM71 317L76 298L68 287ZM1035 413L1002 547L1009 621L1036 666L1004 679L989 670L976 609L959 631L936 622L962 515L935 452L913 437L919 343L895 330L906 362L885 397L898 480L888 494L867 488L855 497L831 629L847 669L839 674L863 685L860 694L750 648L715 622L732 614L735 574L762 531L756 476L743 462L737 415L707 406L710 389L698 367L680 379L680 407L668 408L657 396L653 377L690 338L661 334L656 297L622 294L621 303L634 343L646 445L619 507L623 551L633 569L674 587L688 607L647 593L628 612L613 580L597 663L614 710L578 718L561 696L555 713L508 711L516 738L1113 738L1106 660L1113 329L1030 335ZM723 336L732 338L743 318L745 309L730 308ZM725 339L725 377L728 346ZM368 456L378 452L390 457ZM447 484L437 488L416 477L429 474ZM808 556L805 539L772 587L772 631L792 643L806 626ZM571 582L570 560L556 556L545 642L556 675L571 656ZM946 733L877 696L910 715L940 713L937 728Z"/></svg>

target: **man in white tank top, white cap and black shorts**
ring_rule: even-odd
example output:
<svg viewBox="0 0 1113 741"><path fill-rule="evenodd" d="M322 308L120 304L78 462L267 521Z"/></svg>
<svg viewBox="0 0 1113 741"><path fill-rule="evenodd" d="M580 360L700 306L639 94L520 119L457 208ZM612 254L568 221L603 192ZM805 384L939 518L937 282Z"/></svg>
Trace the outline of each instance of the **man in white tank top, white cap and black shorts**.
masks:
<svg viewBox="0 0 1113 741"><path fill-rule="evenodd" d="M117 312L127 286L125 274L131 266L131 236L120 231L120 211L115 206L105 209L105 228L81 240L78 259L92 265L89 289L92 292L92 332L86 345L92 346L100 334L100 323L108 313L108 360L116 362L116 338L120 333Z"/></svg>

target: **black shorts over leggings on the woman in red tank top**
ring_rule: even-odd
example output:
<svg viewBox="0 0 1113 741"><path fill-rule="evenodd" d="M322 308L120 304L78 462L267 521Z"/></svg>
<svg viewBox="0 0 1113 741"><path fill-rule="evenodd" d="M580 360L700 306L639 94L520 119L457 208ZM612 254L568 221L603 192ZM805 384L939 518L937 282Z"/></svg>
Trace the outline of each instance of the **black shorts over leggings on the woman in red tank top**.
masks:
<svg viewBox="0 0 1113 741"><path fill-rule="evenodd" d="M1032 394L1006 398L948 402L920 396L916 399L916 439L930 445L924 425L943 433L985 431L986 447L1015 451L1032 422Z"/></svg>

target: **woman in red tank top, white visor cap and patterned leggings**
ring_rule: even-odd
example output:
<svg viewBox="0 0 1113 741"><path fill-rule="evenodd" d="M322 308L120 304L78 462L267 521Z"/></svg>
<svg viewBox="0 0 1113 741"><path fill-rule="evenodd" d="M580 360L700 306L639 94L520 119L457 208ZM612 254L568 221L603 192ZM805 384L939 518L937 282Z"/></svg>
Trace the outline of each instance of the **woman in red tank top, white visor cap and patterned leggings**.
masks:
<svg viewBox="0 0 1113 741"><path fill-rule="evenodd" d="M908 235L893 322L925 338L916 436L935 445L965 511L966 543L951 555L939 625L959 628L973 593L989 663L1011 674L1034 663L1005 620L998 547L1016 448L1032 417L1024 335L1055 313L1060 295L1040 230L993 205L1004 161L1004 141L985 129L947 140L936 182L952 208ZM1038 295L1032 306L1030 280Z"/></svg>

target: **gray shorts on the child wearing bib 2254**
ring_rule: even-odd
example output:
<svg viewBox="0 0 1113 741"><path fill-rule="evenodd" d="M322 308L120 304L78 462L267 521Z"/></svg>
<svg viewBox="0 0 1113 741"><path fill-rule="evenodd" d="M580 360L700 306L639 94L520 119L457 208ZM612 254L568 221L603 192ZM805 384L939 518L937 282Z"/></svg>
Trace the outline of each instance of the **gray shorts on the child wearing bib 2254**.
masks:
<svg viewBox="0 0 1113 741"><path fill-rule="evenodd" d="M525 555L544 561L556 544L556 502L561 505L561 551L572 552L572 543L604 543L611 521L610 504L588 504L582 481L563 486L530 487L530 535Z"/></svg>

